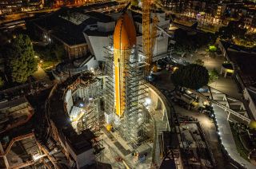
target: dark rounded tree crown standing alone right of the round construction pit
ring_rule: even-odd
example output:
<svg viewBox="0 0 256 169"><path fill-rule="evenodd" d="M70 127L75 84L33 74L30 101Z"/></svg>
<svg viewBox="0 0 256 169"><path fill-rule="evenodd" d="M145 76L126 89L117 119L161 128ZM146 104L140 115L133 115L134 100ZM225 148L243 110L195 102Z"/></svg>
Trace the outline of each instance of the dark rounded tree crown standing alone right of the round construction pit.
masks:
<svg viewBox="0 0 256 169"><path fill-rule="evenodd" d="M176 87L198 89L208 84L208 70L197 64L182 66L177 69L171 77Z"/></svg>

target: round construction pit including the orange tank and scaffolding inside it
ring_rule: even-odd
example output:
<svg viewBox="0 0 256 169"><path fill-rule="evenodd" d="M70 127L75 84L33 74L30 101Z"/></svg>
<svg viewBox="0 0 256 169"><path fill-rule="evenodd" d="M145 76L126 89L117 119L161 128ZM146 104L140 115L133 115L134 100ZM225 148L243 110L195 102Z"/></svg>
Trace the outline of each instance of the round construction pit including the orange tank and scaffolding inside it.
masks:
<svg viewBox="0 0 256 169"><path fill-rule="evenodd" d="M150 168L162 163L170 108L145 81L152 59L138 50L136 34L124 9L112 45L104 48L102 73L69 77L51 91L47 109L53 138L78 168L95 163Z"/></svg>

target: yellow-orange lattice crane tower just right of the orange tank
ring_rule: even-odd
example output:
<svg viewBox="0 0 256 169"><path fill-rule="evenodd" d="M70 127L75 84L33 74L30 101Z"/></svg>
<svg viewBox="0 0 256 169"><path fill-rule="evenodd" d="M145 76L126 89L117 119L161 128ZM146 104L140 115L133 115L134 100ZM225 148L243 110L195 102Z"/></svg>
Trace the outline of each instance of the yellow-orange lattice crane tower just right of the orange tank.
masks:
<svg viewBox="0 0 256 169"><path fill-rule="evenodd" d="M142 47L146 55L146 73L150 74L152 68L152 58L154 54L154 42L157 35L158 17L154 15L152 26L151 20L151 5L154 0L142 0Z"/></svg>

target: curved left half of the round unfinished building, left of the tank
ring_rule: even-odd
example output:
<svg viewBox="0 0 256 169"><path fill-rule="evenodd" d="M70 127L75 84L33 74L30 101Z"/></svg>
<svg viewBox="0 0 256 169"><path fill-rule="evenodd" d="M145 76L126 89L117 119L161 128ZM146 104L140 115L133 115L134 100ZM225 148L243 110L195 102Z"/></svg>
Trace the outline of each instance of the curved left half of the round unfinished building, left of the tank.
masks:
<svg viewBox="0 0 256 169"><path fill-rule="evenodd" d="M62 146L70 167L91 167L101 158L98 138L101 82L92 73L75 75L53 88L49 97L50 130Z"/></svg>

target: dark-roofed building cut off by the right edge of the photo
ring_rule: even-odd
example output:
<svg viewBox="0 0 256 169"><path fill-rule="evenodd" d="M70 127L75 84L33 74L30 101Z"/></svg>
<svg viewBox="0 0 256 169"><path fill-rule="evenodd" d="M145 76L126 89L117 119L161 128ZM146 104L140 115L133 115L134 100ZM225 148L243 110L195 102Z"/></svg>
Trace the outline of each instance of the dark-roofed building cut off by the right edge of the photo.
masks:
<svg viewBox="0 0 256 169"><path fill-rule="evenodd" d="M256 119L255 85L256 85L256 52L246 51L236 45L230 45L224 41L219 42L224 57L233 65L234 80L243 96L248 100L251 119Z"/></svg>

